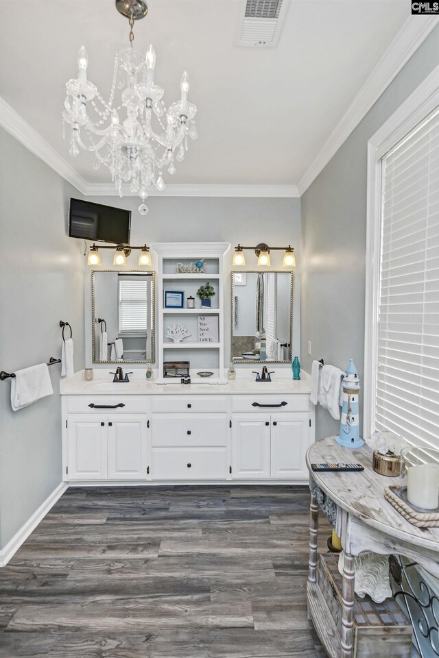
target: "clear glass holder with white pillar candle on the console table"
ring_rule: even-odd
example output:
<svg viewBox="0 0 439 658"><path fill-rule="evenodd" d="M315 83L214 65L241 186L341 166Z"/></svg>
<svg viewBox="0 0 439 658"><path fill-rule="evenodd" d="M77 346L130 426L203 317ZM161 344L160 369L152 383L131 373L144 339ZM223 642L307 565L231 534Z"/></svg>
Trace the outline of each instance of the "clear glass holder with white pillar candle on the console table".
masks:
<svg viewBox="0 0 439 658"><path fill-rule="evenodd" d="M407 474L407 500L420 509L439 507L439 450L403 448L402 475Z"/></svg>

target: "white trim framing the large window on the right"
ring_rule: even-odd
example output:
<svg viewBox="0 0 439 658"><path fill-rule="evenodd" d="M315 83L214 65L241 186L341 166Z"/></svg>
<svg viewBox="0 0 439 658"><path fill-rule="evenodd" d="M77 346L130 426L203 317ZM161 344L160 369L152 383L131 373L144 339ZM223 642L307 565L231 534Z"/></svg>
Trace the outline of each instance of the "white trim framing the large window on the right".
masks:
<svg viewBox="0 0 439 658"><path fill-rule="evenodd" d="M368 141L366 309L364 327L364 436L375 431L377 323L381 260L381 158L439 106L439 66Z"/></svg>

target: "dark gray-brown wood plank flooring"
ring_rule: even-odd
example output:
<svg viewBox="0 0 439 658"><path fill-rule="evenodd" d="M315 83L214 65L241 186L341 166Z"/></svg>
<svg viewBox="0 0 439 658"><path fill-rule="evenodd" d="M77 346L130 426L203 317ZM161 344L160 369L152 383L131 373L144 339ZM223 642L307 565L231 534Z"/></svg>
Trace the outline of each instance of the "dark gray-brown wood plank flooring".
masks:
<svg viewBox="0 0 439 658"><path fill-rule="evenodd" d="M324 658L308 526L307 487L70 488L0 569L0 657Z"/></svg>

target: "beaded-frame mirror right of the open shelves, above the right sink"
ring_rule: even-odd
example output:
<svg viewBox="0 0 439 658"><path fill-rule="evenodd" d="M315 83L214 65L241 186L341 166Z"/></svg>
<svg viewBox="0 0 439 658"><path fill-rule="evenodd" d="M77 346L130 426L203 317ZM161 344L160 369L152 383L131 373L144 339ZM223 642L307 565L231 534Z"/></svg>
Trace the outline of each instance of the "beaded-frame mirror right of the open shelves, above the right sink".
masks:
<svg viewBox="0 0 439 658"><path fill-rule="evenodd" d="M291 363L293 273L232 271L230 358L234 363ZM261 358L265 333L266 358Z"/></svg>

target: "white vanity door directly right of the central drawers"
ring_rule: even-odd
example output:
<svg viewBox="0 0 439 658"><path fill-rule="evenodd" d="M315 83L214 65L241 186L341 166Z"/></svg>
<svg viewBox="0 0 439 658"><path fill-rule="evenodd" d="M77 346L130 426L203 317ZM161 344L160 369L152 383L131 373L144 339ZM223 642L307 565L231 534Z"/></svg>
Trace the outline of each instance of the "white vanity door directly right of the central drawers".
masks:
<svg viewBox="0 0 439 658"><path fill-rule="evenodd" d="M270 415L234 414L232 428L233 479L270 478Z"/></svg>

